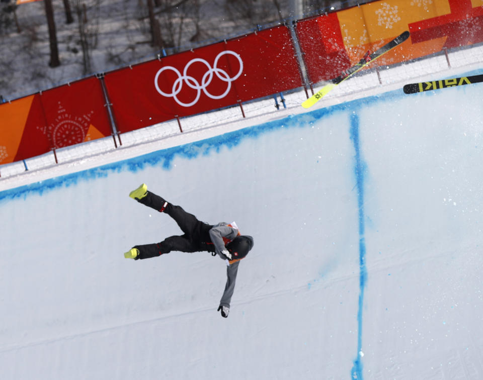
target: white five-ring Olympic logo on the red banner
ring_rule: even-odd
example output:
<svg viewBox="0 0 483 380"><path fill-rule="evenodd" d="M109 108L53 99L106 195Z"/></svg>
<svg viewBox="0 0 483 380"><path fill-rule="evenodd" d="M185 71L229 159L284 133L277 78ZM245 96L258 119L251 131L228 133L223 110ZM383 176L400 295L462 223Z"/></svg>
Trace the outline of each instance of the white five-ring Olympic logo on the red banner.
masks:
<svg viewBox="0 0 483 380"><path fill-rule="evenodd" d="M240 68L239 68L238 72L236 73L236 75L233 76L233 77L230 77L225 70L217 67L218 60L225 54L231 54L238 60ZM187 74L188 69L195 62L201 62L208 68L208 70L204 73L203 78L201 79L201 84L194 77ZM159 88L159 85L157 83L159 75L165 70L173 70L178 75L178 79L176 79L175 82L173 83L171 93L167 93L167 92L162 91ZM243 61L241 60L240 56L237 53L235 53L234 51L224 50L216 56L215 61L213 62L213 67L211 67L210 64L208 63L208 61L206 61L205 59L194 58L186 64L185 68L183 69L183 75L181 75L181 72L176 67L173 67L173 66L164 66L163 68L160 68L156 72L156 76L154 77L154 87L156 87L156 91L159 92L160 94L162 94L164 97L174 98L176 103L178 103L180 106L191 107L191 106L195 105L198 102L198 100L200 99L201 90L203 90L203 92L205 93L205 95L208 98L211 98L211 99L222 99L222 98L224 98L226 96L226 94L231 89L231 82L236 80L241 75L242 71L243 71ZM208 85L211 83L211 80L213 79L213 73L219 79L221 79L222 81L227 83L226 90L221 95L213 95L207 90ZM191 103L183 103L177 98L178 94L181 92L181 89L183 87L183 83L186 83L186 85L188 87L196 90L195 100Z"/></svg>

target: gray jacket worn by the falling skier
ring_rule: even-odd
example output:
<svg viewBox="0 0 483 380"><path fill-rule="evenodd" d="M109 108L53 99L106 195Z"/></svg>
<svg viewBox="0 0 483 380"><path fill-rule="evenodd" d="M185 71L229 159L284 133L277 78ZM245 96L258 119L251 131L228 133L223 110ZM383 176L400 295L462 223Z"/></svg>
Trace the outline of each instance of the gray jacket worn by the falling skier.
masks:
<svg viewBox="0 0 483 380"><path fill-rule="evenodd" d="M215 246L216 254L221 259L226 260L226 263L228 265L226 268L226 285L223 296L221 296L220 306L226 306L227 308L229 308L231 296L233 296L233 291L235 289L235 280L236 274L238 272L238 264L240 262L235 261L230 264L226 256L221 253L221 251L225 249L225 243L223 241L223 238L233 240L238 235L238 230L236 228L228 226L227 223L218 223L216 226L213 226L209 233L211 242Z"/></svg>

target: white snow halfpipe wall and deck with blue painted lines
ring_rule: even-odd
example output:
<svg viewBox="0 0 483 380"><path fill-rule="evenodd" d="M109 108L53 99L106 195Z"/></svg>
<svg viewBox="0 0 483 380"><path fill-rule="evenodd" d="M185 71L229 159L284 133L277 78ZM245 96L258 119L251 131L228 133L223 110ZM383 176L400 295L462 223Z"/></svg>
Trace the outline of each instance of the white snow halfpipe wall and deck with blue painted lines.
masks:
<svg viewBox="0 0 483 380"><path fill-rule="evenodd" d="M2 176L0 377L482 378L483 85L383 83ZM222 260L124 259L180 233L142 182L254 237L227 319Z"/></svg>

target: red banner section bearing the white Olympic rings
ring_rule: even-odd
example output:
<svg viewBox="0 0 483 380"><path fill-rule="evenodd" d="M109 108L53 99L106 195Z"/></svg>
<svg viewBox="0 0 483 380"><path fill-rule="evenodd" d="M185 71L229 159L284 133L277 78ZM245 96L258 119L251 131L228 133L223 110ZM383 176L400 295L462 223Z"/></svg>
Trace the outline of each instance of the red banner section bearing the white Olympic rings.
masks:
<svg viewBox="0 0 483 380"><path fill-rule="evenodd" d="M120 132L302 85L284 26L107 73Z"/></svg>

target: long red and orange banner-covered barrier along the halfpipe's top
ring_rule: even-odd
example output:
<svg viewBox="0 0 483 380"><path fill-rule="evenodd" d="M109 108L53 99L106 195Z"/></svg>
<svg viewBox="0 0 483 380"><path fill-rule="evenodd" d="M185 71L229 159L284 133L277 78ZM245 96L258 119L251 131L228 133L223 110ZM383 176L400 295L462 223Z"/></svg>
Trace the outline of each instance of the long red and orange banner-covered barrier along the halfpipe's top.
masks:
<svg viewBox="0 0 483 380"><path fill-rule="evenodd" d="M482 42L483 0L374 1L4 103L0 165L108 136L117 147L124 132L311 88L404 30L410 40L370 67Z"/></svg>

